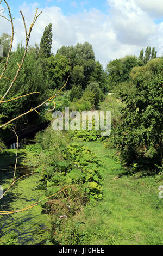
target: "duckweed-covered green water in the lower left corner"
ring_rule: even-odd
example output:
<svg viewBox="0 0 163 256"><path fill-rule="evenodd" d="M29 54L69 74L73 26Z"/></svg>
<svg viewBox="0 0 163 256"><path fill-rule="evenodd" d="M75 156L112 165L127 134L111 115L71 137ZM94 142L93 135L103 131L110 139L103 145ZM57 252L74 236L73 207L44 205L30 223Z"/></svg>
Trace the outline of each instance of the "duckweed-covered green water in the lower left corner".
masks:
<svg viewBox="0 0 163 256"><path fill-rule="evenodd" d="M31 173L32 170L30 167L18 166L18 172L21 174ZM5 170L1 172L5 173ZM4 191L12 183L13 168L8 168L7 172L8 175L1 179ZM39 174L27 177L18 181L0 200L1 211L21 210L44 196L43 191L35 190L40 181ZM44 245L50 230L50 218L43 213L44 208L45 205L38 205L16 214L0 215L0 240L3 240L0 245L10 245L13 242L10 234L13 233L16 235L14 245Z"/></svg>

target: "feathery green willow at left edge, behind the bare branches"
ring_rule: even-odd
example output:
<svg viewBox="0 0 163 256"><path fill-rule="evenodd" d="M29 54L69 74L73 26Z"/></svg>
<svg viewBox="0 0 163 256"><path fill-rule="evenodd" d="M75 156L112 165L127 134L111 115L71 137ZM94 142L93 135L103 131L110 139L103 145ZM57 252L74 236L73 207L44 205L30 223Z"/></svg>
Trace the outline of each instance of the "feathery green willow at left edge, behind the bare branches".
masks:
<svg viewBox="0 0 163 256"><path fill-rule="evenodd" d="M22 45L17 46L17 51L11 54L10 62L8 64L7 71L5 76L7 76L10 80L16 74L17 71L17 62L21 63L21 59L24 53L24 47ZM32 64L31 64L32 63ZM2 68L1 70L2 71ZM14 101L10 101L8 103L1 104L0 112L3 113L3 116L0 117L0 123L5 123L8 120L26 112L31 109L31 107L35 107L39 105L45 99L46 86L44 84L45 77L42 74L42 68L39 60L35 59L35 53L30 52L27 54L26 59L24 61L24 65L22 66L22 70L20 75L15 82L14 87L10 90L6 100L12 99L13 97L18 97L21 95L26 95L28 93L34 93L32 95L22 97L21 99L17 99ZM10 81L1 80L0 84L0 94L4 95L4 93L9 88ZM38 118L38 114L35 112L30 113L17 120L18 124L24 124L27 121L32 123L32 120Z"/></svg>

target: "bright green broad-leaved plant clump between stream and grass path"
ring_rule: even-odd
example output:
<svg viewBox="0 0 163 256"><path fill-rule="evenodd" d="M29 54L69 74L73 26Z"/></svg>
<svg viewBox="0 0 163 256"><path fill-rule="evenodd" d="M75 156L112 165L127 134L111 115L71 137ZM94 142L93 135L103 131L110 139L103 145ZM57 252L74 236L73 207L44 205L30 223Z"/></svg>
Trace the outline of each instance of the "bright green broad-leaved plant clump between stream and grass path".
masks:
<svg viewBox="0 0 163 256"><path fill-rule="evenodd" d="M83 191L90 200L102 198L102 179L98 173L99 161L88 148L78 144L68 145L62 156L54 150L41 154L42 164L37 172L46 178L47 192L58 192L61 186L83 184Z"/></svg>

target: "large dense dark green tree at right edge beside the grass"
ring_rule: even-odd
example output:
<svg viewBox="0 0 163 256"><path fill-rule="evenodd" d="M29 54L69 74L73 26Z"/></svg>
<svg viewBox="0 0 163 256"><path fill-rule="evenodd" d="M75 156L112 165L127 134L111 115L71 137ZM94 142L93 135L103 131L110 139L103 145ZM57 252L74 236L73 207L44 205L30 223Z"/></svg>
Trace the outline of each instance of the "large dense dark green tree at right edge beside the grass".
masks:
<svg viewBox="0 0 163 256"><path fill-rule="evenodd" d="M145 66L134 68L131 77L135 93L128 96L120 92L125 107L115 141L129 165L148 160L148 168L162 166L162 70L163 59L152 59Z"/></svg>

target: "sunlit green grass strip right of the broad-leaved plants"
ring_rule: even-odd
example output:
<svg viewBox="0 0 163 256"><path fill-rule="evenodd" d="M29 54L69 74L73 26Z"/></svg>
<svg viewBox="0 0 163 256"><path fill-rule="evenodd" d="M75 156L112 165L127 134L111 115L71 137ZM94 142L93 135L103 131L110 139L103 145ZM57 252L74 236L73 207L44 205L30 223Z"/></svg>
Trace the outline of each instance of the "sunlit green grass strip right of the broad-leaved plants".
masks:
<svg viewBox="0 0 163 256"><path fill-rule="evenodd" d="M85 143L102 161L103 202L88 204L75 218L83 221L85 245L163 245L163 199L158 187L161 175L146 178L119 175L124 172L102 143Z"/></svg>

